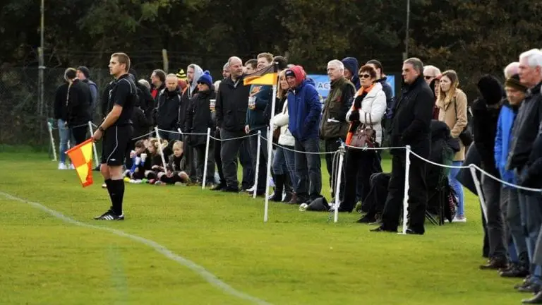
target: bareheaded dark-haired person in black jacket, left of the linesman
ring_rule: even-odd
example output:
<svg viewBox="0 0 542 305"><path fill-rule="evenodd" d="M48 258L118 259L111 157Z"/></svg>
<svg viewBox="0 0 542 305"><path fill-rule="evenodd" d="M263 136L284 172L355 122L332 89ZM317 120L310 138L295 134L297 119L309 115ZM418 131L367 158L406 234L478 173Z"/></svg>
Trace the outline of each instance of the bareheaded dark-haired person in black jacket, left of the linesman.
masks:
<svg viewBox="0 0 542 305"><path fill-rule="evenodd" d="M76 69L71 68L66 72L66 78L70 83L68 87L68 121L66 125L76 140L76 145L85 142L90 121L92 95L88 85L76 76Z"/></svg>

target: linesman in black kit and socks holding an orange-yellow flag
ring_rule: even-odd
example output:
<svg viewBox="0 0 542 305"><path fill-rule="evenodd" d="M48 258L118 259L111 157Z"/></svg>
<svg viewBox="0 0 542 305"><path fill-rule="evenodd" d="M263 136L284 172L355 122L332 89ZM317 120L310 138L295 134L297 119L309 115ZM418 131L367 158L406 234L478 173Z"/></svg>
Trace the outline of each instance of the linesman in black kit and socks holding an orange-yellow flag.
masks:
<svg viewBox="0 0 542 305"><path fill-rule="evenodd" d="M124 157L128 143L132 138L131 116L137 101L137 90L128 75L130 58L124 53L114 53L109 60L109 74L115 80L109 90L107 116L92 138L95 141L104 138L102 144L102 165L100 172L107 185L112 207L95 217L95 220L124 220L122 201L124 198L123 170Z"/></svg>

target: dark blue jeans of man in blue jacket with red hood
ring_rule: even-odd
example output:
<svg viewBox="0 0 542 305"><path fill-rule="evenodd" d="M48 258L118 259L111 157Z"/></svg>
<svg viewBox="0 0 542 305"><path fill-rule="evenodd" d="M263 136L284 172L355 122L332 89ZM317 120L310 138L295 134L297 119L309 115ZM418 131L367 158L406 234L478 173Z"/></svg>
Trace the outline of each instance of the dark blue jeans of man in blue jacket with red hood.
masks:
<svg viewBox="0 0 542 305"><path fill-rule="evenodd" d="M294 152L296 159L296 174L298 183L296 187L297 195L308 195L311 198L320 196L322 191L322 169L320 155L303 152L320 152L320 140L318 138L309 138L306 140L296 139Z"/></svg>

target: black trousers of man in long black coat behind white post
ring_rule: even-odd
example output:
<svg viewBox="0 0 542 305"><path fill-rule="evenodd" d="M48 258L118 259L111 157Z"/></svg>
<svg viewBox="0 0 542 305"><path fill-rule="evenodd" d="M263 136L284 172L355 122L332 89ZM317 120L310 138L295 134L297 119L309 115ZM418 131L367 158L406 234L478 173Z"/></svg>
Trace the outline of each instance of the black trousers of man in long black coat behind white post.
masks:
<svg viewBox="0 0 542 305"><path fill-rule="evenodd" d="M404 169L406 158L403 155L392 157L392 177L387 188L387 199L382 220L385 229L397 229L404 198ZM426 220L427 184L426 163L411 157L409 172L409 228L423 233Z"/></svg>

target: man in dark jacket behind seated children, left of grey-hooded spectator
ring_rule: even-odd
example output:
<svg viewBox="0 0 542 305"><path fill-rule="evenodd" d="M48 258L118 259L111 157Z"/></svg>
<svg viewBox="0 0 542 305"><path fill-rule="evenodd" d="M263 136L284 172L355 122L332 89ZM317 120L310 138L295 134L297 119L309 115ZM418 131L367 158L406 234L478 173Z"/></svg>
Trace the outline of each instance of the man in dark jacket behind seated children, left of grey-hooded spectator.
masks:
<svg viewBox="0 0 542 305"><path fill-rule="evenodd" d="M157 101L155 118L160 138L169 141L179 140L177 126L179 126L181 92L179 91L179 79L175 74L167 75L166 88L159 92Z"/></svg>

